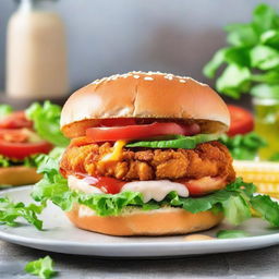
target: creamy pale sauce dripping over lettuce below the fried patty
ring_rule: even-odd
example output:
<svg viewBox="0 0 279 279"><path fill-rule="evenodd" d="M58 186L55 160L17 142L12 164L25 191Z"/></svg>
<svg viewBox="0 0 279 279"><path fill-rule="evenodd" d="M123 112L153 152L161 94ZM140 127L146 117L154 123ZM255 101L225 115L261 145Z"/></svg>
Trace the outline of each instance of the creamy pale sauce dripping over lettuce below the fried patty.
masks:
<svg viewBox="0 0 279 279"><path fill-rule="evenodd" d="M189 196L189 191L185 185L169 180L134 181L124 184L121 189L121 192L142 193L145 203L150 199L160 202L172 191L175 191L179 196Z"/></svg>

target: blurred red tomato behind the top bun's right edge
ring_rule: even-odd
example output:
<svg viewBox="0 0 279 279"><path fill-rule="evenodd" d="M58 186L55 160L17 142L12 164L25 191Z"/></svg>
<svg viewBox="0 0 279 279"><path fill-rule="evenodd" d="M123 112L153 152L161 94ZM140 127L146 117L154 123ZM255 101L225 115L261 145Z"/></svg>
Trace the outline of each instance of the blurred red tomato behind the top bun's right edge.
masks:
<svg viewBox="0 0 279 279"><path fill-rule="evenodd" d="M254 119L252 113L241 107L232 105L228 105L228 109L231 114L231 125L230 130L227 132L229 136L246 134L254 130Z"/></svg>

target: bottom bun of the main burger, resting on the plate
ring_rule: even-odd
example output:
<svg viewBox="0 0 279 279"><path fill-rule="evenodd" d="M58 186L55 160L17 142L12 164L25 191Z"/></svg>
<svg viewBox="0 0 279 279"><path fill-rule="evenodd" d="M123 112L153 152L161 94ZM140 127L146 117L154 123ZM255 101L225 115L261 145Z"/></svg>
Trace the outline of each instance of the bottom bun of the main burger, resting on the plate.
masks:
<svg viewBox="0 0 279 279"><path fill-rule="evenodd" d="M192 214L171 207L148 211L132 209L120 216L100 217L86 206L75 205L66 215L77 228L119 236L184 234L207 230L223 219L222 214Z"/></svg>

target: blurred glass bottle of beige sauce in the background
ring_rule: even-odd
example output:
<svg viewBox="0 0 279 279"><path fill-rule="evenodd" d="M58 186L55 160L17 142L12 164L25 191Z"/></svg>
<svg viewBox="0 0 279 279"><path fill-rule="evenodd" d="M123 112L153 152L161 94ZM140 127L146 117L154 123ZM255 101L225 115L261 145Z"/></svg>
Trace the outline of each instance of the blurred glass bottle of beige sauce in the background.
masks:
<svg viewBox="0 0 279 279"><path fill-rule="evenodd" d="M63 22L53 1L20 0L8 24L7 94L15 98L66 95L66 47Z"/></svg>

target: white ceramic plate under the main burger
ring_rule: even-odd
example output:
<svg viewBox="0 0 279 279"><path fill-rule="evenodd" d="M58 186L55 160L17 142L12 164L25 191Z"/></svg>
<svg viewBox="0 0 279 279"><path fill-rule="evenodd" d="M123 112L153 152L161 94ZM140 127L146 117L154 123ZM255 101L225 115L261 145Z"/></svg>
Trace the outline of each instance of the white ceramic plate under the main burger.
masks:
<svg viewBox="0 0 279 279"><path fill-rule="evenodd" d="M13 201L31 203L31 186L12 189L0 192ZM259 219L251 219L238 229L250 232L253 236L228 240L185 241L185 235L157 238L117 238L80 230L73 227L62 210L49 204L44 214L44 231L23 222L11 228L0 226L0 239L34 248L80 255L107 257L159 257L185 256L209 253L225 253L253 250L279 244L279 230L268 228ZM203 232L215 236L220 229L231 229L221 225L213 230Z"/></svg>

